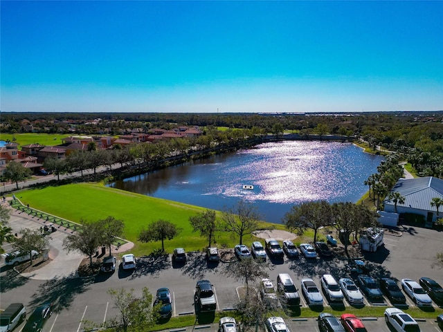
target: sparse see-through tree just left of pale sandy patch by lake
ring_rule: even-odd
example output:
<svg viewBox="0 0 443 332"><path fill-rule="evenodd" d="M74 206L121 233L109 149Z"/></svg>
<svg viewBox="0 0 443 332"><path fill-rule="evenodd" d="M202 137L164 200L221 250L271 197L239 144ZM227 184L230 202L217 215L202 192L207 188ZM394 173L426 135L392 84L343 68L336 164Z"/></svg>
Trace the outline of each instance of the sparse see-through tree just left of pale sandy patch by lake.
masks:
<svg viewBox="0 0 443 332"><path fill-rule="evenodd" d="M224 209L222 219L226 232L237 234L239 236L239 244L242 244L244 235L251 234L257 229L260 215L252 203L240 200L233 208Z"/></svg>

